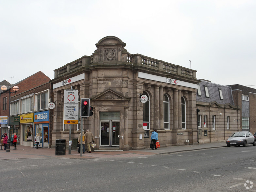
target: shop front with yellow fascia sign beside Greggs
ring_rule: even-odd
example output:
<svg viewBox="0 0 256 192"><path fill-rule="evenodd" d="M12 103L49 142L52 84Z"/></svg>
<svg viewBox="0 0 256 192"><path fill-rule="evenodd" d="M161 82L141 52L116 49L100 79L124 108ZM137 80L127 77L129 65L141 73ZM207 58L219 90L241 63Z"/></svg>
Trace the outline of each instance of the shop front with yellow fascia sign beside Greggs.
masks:
<svg viewBox="0 0 256 192"><path fill-rule="evenodd" d="M22 114L20 115L20 125L21 125L21 137L20 145L33 146L33 114Z"/></svg>

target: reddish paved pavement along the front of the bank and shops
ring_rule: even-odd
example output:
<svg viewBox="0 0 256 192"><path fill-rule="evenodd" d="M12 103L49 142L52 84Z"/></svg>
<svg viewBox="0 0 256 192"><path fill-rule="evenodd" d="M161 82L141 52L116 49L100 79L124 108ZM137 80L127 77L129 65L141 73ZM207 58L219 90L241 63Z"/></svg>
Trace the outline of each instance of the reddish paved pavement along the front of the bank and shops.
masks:
<svg viewBox="0 0 256 192"><path fill-rule="evenodd" d="M214 143L202 143L196 145L184 145L184 146L169 146L160 147L157 150L151 148L143 150L129 150L129 151L92 151L91 153L85 152L84 154L77 151L66 150L65 155L56 155L56 149L47 148L33 148L30 146L17 145L17 150L13 150L14 147L10 146L10 151L0 150L0 160L6 159L27 159L27 158L70 158L70 159L98 159L98 158L125 158L125 157L146 157L149 155L161 155L170 154L175 152L194 151L202 149L211 149L227 147L226 142L214 142ZM4 149L4 147L3 147ZM67 148L66 148L67 149ZM59 154L59 152L57 152Z"/></svg>

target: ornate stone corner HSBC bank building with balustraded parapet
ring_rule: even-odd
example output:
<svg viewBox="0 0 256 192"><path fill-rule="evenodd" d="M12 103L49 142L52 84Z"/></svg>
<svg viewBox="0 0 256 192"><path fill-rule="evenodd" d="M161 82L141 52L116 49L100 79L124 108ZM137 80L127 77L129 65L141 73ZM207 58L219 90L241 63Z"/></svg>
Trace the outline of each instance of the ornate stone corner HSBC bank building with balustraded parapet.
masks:
<svg viewBox="0 0 256 192"><path fill-rule="evenodd" d="M78 101L90 98L93 116L83 128L93 133L97 149L148 148L158 132L161 147L198 142L196 71L140 54L130 54L119 38L107 36L96 43L91 56L82 56L55 71L53 84L55 140L69 140L64 124L64 90L78 90ZM140 96L147 96L146 103ZM80 120L72 124L78 138Z"/></svg>

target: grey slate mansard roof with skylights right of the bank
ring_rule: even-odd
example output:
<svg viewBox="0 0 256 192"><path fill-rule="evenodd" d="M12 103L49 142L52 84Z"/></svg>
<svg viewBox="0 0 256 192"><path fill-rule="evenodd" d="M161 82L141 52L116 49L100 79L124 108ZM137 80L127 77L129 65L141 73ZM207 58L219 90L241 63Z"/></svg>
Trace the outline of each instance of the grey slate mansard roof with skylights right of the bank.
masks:
<svg viewBox="0 0 256 192"><path fill-rule="evenodd" d="M209 97L205 97L204 86L208 87ZM197 94L197 102L205 102L205 103L216 102L217 104L234 105L231 87L201 80L200 89L201 89L202 96L198 96ZM223 100L220 99L219 89L222 90Z"/></svg>

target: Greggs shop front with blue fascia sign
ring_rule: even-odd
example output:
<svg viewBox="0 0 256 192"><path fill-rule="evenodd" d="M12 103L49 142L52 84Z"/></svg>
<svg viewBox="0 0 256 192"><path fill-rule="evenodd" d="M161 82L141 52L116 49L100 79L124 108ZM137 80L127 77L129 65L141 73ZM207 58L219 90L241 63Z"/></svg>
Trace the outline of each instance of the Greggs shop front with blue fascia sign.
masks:
<svg viewBox="0 0 256 192"><path fill-rule="evenodd" d="M49 110L40 111L34 113L34 124L35 124L35 134L34 134L34 146L36 146L35 136L40 133L42 140L39 143L39 147L48 148L49 146Z"/></svg>

